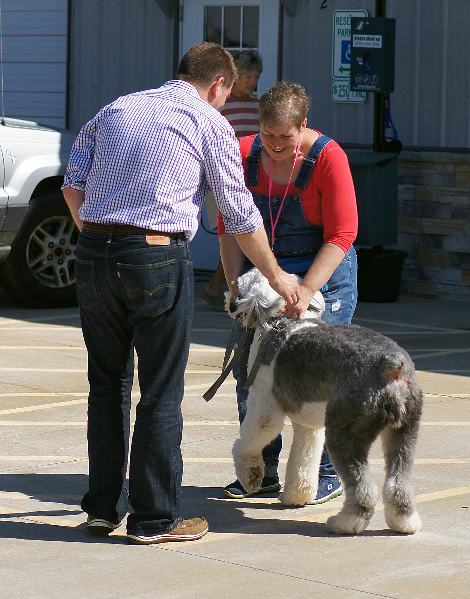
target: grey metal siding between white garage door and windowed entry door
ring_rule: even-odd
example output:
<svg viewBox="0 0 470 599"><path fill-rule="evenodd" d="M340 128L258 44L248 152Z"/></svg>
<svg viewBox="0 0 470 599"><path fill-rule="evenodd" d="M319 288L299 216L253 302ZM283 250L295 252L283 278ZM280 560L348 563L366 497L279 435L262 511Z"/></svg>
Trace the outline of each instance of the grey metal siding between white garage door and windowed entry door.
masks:
<svg viewBox="0 0 470 599"><path fill-rule="evenodd" d="M72 0L69 128L172 76L172 20L155 0Z"/></svg>

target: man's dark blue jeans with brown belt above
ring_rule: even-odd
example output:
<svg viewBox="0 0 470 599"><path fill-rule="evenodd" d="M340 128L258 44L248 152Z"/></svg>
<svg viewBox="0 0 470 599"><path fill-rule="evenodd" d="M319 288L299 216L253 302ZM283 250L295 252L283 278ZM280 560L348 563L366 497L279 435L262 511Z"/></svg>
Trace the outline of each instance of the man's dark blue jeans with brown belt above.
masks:
<svg viewBox="0 0 470 599"><path fill-rule="evenodd" d="M128 533L170 531L181 520L181 401L193 312L187 243L148 245L145 235L81 233L75 270L88 350L89 491L84 512ZM126 470L138 356L141 398Z"/></svg>

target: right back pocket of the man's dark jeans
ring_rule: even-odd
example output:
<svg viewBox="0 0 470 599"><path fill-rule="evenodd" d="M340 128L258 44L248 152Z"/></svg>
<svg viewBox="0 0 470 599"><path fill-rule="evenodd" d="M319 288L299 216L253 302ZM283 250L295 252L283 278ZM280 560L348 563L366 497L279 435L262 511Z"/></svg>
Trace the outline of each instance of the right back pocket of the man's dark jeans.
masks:
<svg viewBox="0 0 470 599"><path fill-rule="evenodd" d="M159 316L175 301L175 261L155 264L117 263L129 307L145 316Z"/></svg>

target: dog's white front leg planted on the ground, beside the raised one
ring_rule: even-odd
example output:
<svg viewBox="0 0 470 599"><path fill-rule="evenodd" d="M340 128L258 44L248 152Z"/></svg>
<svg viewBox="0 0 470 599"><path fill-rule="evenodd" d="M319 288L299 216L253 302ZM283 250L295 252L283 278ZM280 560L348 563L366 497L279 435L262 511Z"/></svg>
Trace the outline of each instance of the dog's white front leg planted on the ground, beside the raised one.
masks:
<svg viewBox="0 0 470 599"><path fill-rule="evenodd" d="M284 506L305 506L317 496L325 428L308 428L296 422L292 426L294 438L280 500Z"/></svg>

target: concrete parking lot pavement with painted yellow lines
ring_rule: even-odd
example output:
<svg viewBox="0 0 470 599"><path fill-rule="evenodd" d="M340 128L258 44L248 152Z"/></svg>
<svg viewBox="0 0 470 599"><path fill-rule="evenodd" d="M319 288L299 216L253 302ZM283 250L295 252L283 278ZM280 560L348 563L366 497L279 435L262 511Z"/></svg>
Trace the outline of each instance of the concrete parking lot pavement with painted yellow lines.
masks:
<svg viewBox="0 0 470 599"><path fill-rule="evenodd" d="M232 321L199 299L183 401L183 516L210 532L134 546L125 525L87 533L86 350L77 308L28 310L0 294L0 589L4 597L469 597L470 306L416 298L358 304L354 322L410 352L425 393L414 466L423 530L392 533L379 504L362 536L336 537L323 506L275 495L222 498L234 480L238 414L231 377L209 403ZM135 382L133 398L138 400ZM283 432L283 477L291 427ZM372 471L383 482L380 445Z"/></svg>

